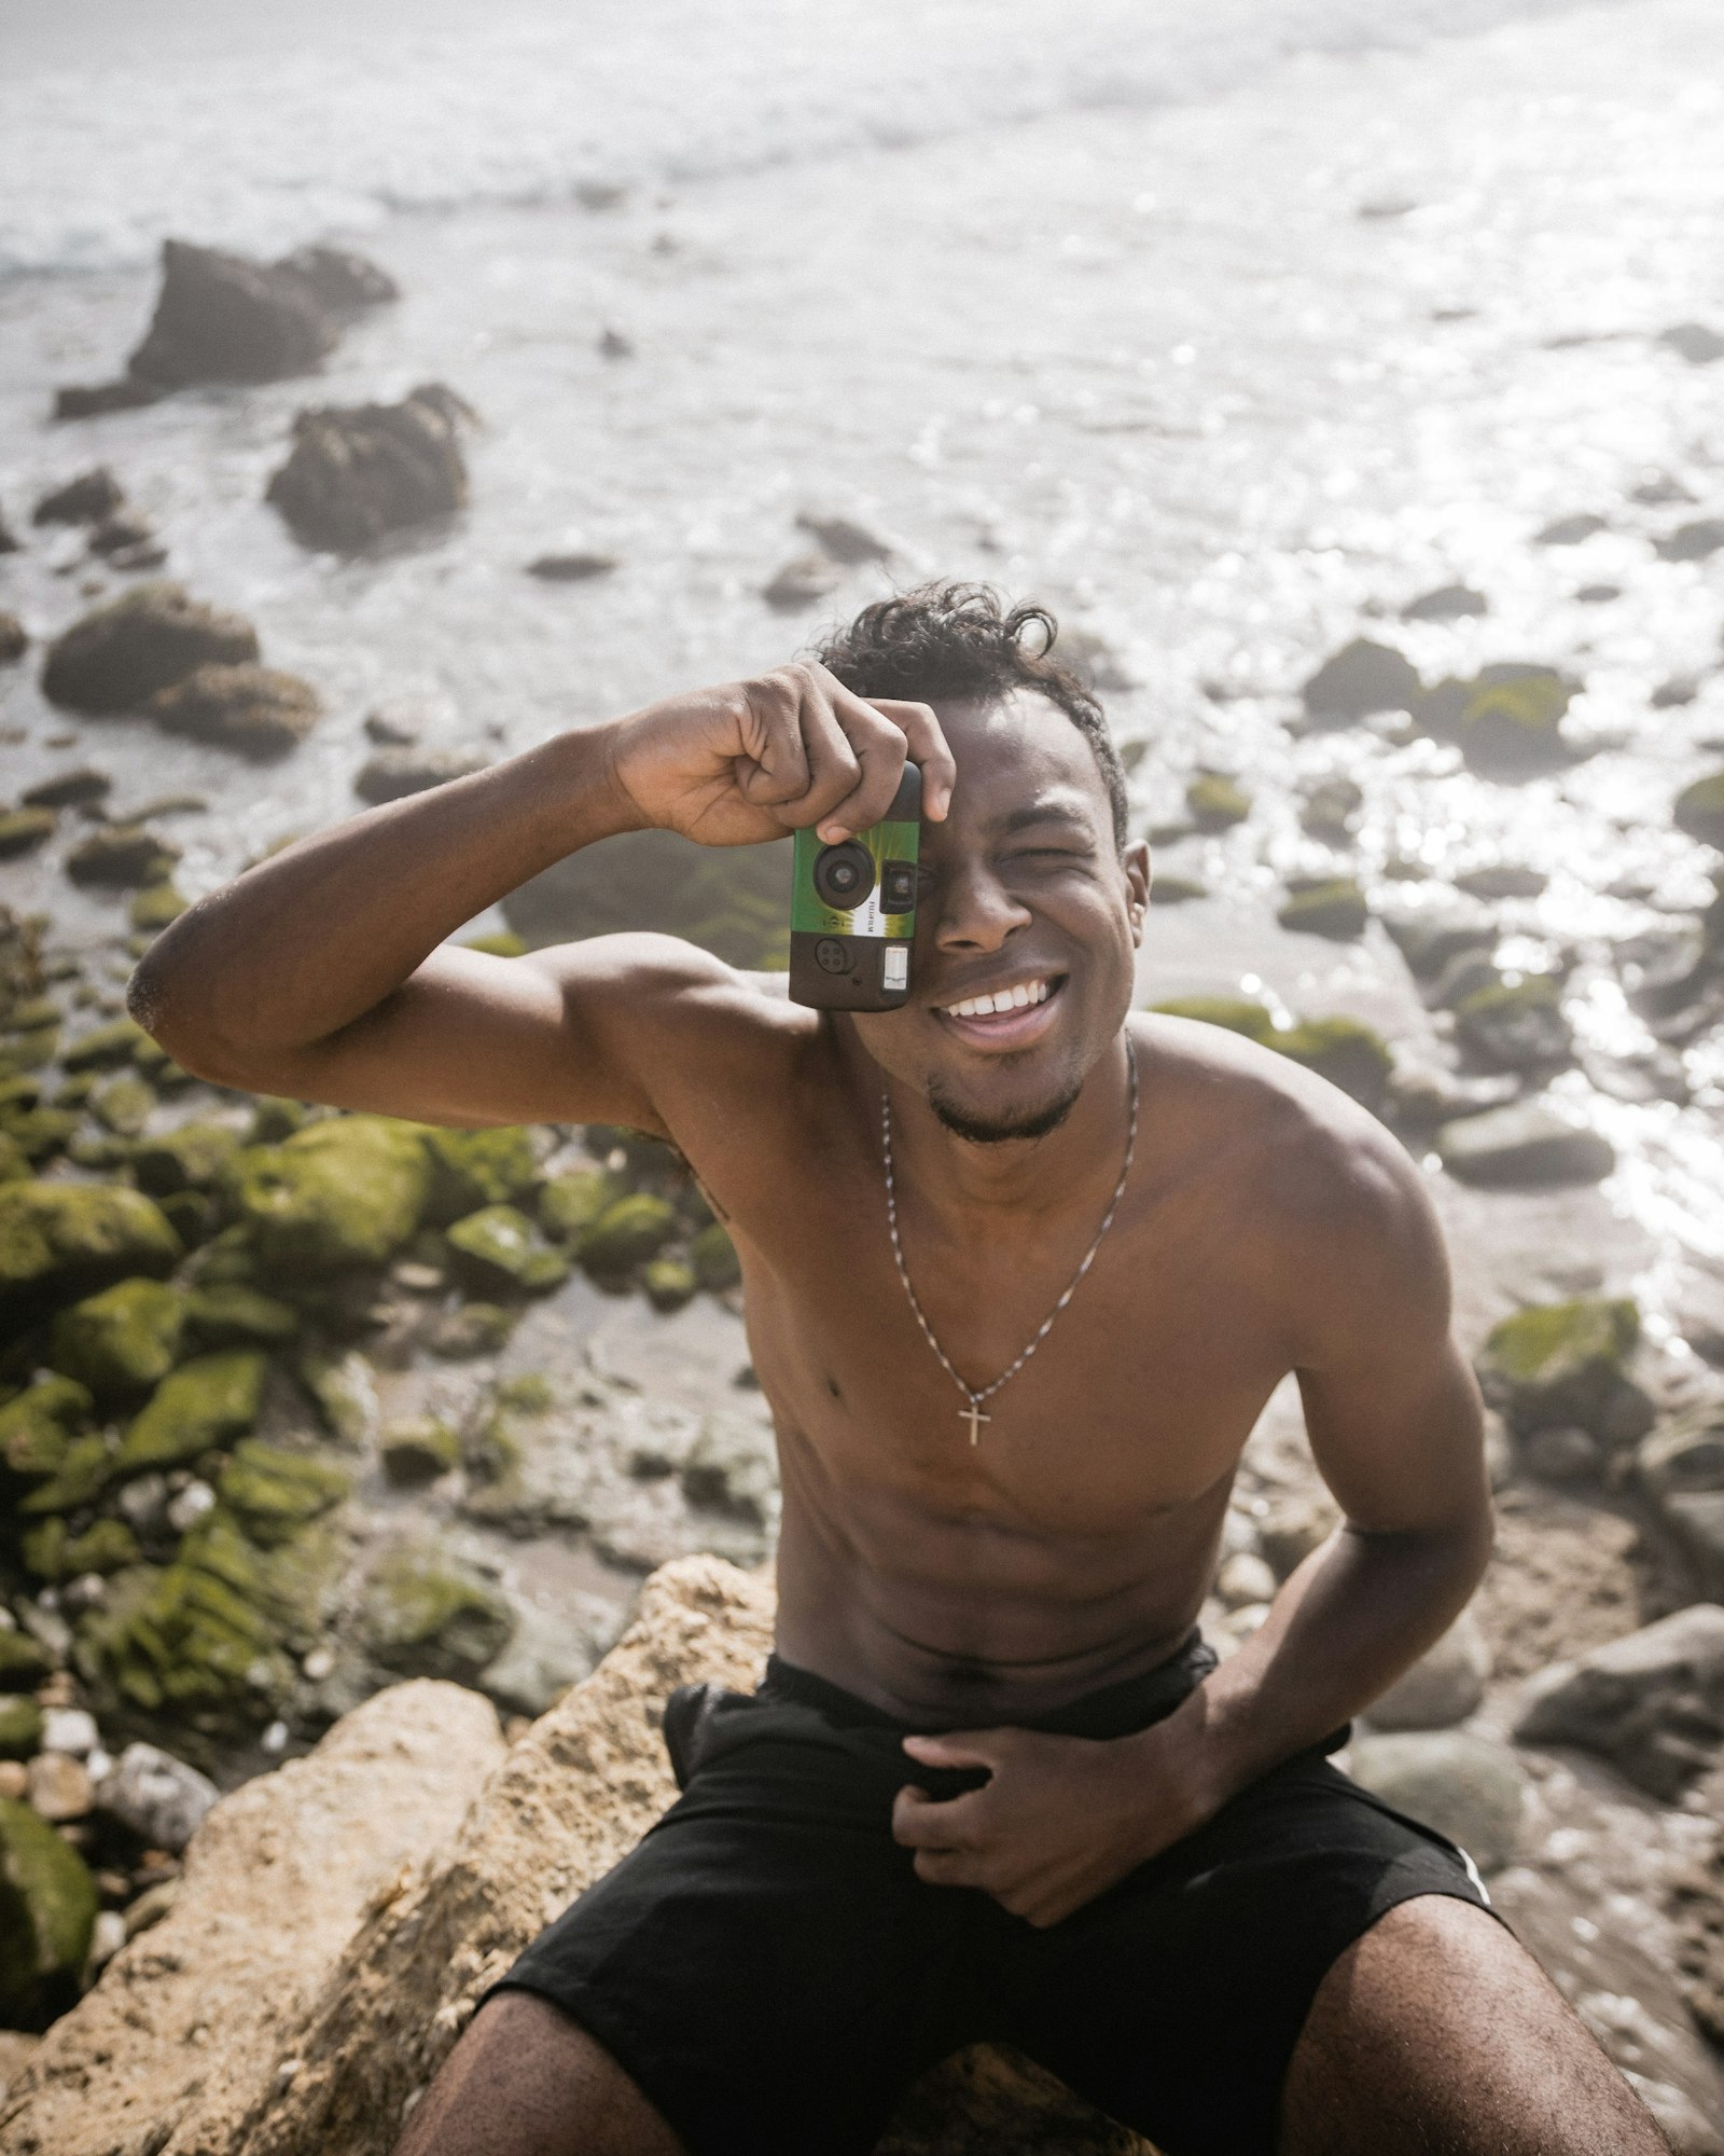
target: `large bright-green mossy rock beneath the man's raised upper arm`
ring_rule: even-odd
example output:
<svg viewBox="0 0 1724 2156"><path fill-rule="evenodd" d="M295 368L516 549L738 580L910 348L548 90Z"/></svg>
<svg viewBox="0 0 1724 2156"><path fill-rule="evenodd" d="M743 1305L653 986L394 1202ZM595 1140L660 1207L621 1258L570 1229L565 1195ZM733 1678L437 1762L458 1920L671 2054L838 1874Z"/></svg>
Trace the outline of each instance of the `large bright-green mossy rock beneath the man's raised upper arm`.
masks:
<svg viewBox="0 0 1724 2156"><path fill-rule="evenodd" d="M233 1169L261 1261L287 1272L381 1266L418 1227L429 1190L425 1132L381 1115L308 1123Z"/></svg>

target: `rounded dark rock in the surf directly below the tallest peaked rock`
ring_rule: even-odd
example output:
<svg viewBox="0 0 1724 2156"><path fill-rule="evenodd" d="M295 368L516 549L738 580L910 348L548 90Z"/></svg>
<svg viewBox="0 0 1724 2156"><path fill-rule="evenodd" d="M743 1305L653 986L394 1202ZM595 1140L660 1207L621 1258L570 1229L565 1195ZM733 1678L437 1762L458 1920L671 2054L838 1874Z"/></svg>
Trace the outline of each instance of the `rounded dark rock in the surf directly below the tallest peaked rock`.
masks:
<svg viewBox="0 0 1724 2156"><path fill-rule="evenodd" d="M293 420L293 453L267 500L304 545L356 554L468 500L459 425L472 410L437 382L399 405L317 405Z"/></svg>

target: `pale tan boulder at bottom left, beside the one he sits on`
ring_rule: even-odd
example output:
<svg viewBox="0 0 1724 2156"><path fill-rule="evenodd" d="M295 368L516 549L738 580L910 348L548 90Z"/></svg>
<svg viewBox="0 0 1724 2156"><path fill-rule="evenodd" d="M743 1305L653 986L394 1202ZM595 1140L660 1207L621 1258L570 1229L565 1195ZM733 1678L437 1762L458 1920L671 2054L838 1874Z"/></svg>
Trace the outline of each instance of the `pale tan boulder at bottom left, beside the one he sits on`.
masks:
<svg viewBox="0 0 1724 2156"><path fill-rule="evenodd" d="M11 2081L0 2143L19 2156L170 2145L239 2156L252 2109L289 2091L293 2074L278 2068L356 1927L401 1895L502 1757L478 1692L397 1684L308 1759L222 1798L185 1852L168 1915L121 1949ZM379 2113L379 2156L397 2126Z"/></svg>

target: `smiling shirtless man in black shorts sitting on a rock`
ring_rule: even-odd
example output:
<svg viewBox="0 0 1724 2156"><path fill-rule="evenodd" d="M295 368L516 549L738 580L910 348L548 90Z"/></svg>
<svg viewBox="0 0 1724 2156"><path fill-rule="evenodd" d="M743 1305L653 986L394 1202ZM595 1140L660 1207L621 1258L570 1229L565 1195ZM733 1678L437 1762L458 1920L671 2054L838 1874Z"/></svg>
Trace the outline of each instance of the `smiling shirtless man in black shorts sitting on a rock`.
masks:
<svg viewBox="0 0 1724 2156"><path fill-rule="evenodd" d="M778 1651L756 1695L681 1699L685 1796L481 2003L401 2156L864 2156L978 2040L1164 2156L1666 2147L1470 1858L1325 1757L1491 1542L1442 1240L1351 1100L1131 1013L1149 858L1041 627L965 586L868 608L825 664L306 839L138 970L224 1084L657 1132L741 1255ZM849 837L905 755L899 1011L664 936L444 946L612 832ZM1287 1371L1345 1520L1215 1664L1194 1619Z"/></svg>

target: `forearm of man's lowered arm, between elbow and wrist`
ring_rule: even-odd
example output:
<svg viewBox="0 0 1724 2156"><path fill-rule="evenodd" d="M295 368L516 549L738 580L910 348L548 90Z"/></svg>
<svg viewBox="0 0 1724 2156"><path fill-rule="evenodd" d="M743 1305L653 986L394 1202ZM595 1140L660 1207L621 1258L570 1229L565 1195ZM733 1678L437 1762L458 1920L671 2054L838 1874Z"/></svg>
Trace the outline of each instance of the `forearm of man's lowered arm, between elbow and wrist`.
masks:
<svg viewBox="0 0 1724 2156"><path fill-rule="evenodd" d="M1343 1529L1315 1550L1162 1725L1183 1740L1205 1815L1386 1692L1465 1608L1489 1550L1489 1511L1448 1533Z"/></svg>

